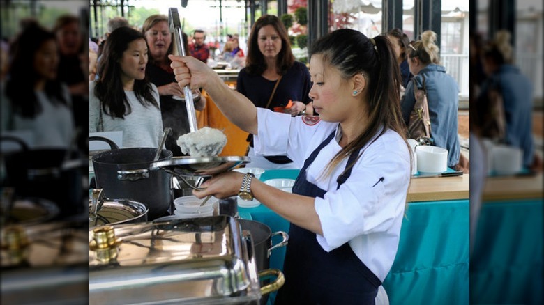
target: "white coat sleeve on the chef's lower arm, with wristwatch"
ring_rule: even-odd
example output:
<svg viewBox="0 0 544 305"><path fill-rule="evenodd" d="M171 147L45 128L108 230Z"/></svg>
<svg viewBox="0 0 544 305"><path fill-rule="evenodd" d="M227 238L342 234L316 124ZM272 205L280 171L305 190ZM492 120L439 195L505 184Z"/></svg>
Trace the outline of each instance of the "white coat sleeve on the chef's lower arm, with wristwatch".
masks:
<svg viewBox="0 0 544 305"><path fill-rule="evenodd" d="M379 142L379 143L378 143ZM359 235L387 233L402 217L410 180L409 150L398 136L378 139L355 164L352 175L337 190L315 198L323 235L317 241L325 251Z"/></svg>

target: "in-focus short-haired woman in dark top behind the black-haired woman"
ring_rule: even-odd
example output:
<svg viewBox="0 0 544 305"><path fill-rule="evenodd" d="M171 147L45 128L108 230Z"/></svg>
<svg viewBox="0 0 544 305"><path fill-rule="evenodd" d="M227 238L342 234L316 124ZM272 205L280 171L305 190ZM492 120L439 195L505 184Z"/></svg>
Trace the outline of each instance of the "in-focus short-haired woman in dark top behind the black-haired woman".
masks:
<svg viewBox="0 0 544 305"><path fill-rule="evenodd" d="M142 33L146 36L149 46L149 62L146 65L146 77L157 86L160 96L160 112L163 117L163 126L172 128L172 134L166 139L165 147L171 150L174 156L181 156L181 148L176 141L179 136L190 132L187 108L181 100L183 90L179 88L174 72L170 68L168 54L172 54L173 34L168 27L168 17L165 15L151 15L144 22ZM183 43L187 47L187 36L183 33ZM202 111L206 106L206 99L200 93L193 91L195 109Z"/></svg>

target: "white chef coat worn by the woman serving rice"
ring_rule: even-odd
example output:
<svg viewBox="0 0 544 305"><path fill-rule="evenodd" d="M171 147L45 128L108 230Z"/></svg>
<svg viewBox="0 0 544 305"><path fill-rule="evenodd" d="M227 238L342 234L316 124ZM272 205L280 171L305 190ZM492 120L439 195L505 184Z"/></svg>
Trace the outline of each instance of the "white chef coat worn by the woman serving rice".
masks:
<svg viewBox="0 0 544 305"><path fill-rule="evenodd" d="M258 134L254 138L256 153L287 155L302 167L304 160L326 137L337 130L331 141L308 167L308 182L326 190L324 198L315 198L315 210L321 221L323 235L316 235L325 251L342 244L384 281L398 249L400 227L405 211L410 181L410 153L407 143L392 130L367 144L340 189L338 175L347 159L323 178L326 165L340 151L341 128L317 117L280 114L257 108ZM317 120L317 121L316 121ZM382 180L380 180L383 178Z"/></svg>

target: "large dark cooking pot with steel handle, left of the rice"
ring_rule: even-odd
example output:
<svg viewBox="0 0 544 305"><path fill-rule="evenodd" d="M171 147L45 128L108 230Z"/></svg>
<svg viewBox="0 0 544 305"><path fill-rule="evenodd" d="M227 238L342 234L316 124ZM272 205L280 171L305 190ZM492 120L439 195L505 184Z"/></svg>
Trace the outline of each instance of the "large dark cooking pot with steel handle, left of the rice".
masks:
<svg viewBox="0 0 544 305"><path fill-rule="evenodd" d="M107 198L127 198L144 203L149 208L149 220L169 214L172 175L149 170L155 154L156 148L121 148L94 155L96 187L104 189ZM160 160L167 159L172 159L172 152L163 149Z"/></svg>

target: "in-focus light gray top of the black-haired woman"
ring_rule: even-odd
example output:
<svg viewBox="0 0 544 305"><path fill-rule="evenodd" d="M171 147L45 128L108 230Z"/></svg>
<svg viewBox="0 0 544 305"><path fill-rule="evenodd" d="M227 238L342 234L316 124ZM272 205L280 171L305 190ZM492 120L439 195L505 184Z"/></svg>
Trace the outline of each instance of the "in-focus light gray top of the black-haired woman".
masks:
<svg viewBox="0 0 544 305"><path fill-rule="evenodd" d="M125 91L132 107L132 112L125 118L113 118L102 114L104 130L98 126L100 116L100 101L94 95L94 81L89 84L89 132L123 132L123 148L151 147L157 148L160 137L163 135L163 120L160 117L160 109L142 105L134 91ZM159 102L157 87L153 84L153 95Z"/></svg>

